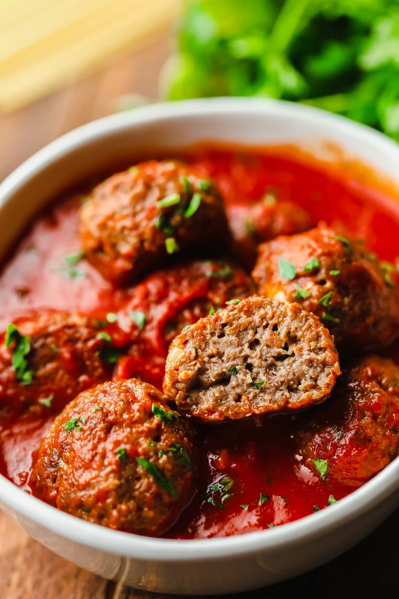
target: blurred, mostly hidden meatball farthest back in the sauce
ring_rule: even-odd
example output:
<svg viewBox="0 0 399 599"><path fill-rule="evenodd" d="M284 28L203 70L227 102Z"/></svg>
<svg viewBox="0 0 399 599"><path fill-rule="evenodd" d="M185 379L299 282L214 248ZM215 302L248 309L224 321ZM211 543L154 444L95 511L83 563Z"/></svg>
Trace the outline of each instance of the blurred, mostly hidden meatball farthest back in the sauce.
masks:
<svg viewBox="0 0 399 599"><path fill-rule="evenodd" d="M227 207L234 253L240 262L253 268L258 244L278 235L293 235L313 226L310 214L293 202L279 202L273 195L255 204L232 204Z"/></svg>

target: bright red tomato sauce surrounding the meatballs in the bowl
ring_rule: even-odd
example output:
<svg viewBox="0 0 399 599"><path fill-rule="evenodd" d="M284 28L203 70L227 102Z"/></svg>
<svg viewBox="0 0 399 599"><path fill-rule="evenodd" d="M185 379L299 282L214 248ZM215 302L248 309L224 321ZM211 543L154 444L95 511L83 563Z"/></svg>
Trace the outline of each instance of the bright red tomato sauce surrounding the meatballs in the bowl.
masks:
<svg viewBox="0 0 399 599"><path fill-rule="evenodd" d="M381 259L395 261L399 253L394 243L399 238L399 202L369 189L367 182L270 151L202 149L186 159L215 181L228 211L273 192L278 200L307 210L315 223L342 223L366 238ZM108 312L123 310L128 304L129 289L112 288L84 259L72 267L72 277L70 271L66 276L71 267L64 256L80 250L80 202L80 193L60 198L36 217L14 249L0 275L1 331L17 317L44 308L81 311L104 319ZM150 309L156 311L157 306ZM165 347L157 352L156 346L154 341L153 353L145 361L149 382L160 385ZM384 353L399 358L397 346ZM124 377L127 362L126 356L120 358L114 377ZM26 492L31 492L33 454L53 418L51 408L46 419L26 415L6 421L0 411L0 471ZM165 536L229 536L281 525L328 507L330 495L340 500L353 491L322 481L301 463L293 440L295 426L296 418L291 415L199 425L199 492ZM209 485L223 477L229 477L230 497L222 509L223 492L204 495Z"/></svg>

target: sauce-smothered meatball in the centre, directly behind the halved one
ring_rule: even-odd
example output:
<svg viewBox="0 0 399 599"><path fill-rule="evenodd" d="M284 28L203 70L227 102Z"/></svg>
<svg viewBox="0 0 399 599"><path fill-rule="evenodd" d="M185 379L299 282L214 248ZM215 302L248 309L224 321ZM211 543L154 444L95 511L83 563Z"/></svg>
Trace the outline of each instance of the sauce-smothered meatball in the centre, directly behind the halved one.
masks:
<svg viewBox="0 0 399 599"><path fill-rule="evenodd" d="M229 299L253 292L242 269L221 261L191 262L151 274L133 289L132 300L118 314L134 343L118 363L117 377L135 376L162 387L167 350L176 335Z"/></svg>

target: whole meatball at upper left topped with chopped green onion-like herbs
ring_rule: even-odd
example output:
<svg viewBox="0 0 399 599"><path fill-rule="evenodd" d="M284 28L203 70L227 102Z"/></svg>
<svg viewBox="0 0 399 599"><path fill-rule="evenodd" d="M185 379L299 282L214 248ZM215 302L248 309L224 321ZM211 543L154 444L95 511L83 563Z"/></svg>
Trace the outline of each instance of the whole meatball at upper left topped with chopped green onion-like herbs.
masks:
<svg viewBox="0 0 399 599"><path fill-rule="evenodd" d="M109 177L81 208L87 259L115 283L175 256L229 245L220 193L178 161L150 161ZM215 254L214 254L215 255Z"/></svg>

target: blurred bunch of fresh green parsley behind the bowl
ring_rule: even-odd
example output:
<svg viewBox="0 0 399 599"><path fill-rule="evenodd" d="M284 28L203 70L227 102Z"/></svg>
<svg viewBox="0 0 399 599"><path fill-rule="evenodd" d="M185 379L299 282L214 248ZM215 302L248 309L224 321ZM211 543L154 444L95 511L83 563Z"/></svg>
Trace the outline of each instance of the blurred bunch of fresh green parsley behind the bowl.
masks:
<svg viewBox="0 0 399 599"><path fill-rule="evenodd" d="M399 0L188 0L171 100L300 101L399 141Z"/></svg>

